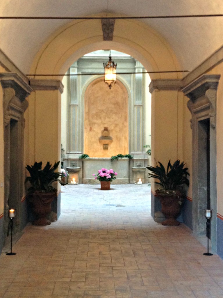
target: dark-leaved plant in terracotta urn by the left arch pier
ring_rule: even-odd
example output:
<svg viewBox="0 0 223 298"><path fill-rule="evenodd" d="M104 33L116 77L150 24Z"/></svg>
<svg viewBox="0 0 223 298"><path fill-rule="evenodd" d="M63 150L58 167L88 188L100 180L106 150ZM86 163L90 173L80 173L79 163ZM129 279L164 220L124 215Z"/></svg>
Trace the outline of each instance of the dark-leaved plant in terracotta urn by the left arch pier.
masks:
<svg viewBox="0 0 223 298"><path fill-rule="evenodd" d="M46 216L51 212L51 203L56 196L56 188L52 186L54 181L63 182L58 179L61 173L55 172L59 166L59 162L55 162L54 166L47 162L42 169L42 162L35 162L31 167L26 165L30 176L26 177L25 183L29 182L31 186L28 188L28 196L33 206L33 211L37 215L37 219L33 222L36 226L46 226L51 222Z"/></svg>

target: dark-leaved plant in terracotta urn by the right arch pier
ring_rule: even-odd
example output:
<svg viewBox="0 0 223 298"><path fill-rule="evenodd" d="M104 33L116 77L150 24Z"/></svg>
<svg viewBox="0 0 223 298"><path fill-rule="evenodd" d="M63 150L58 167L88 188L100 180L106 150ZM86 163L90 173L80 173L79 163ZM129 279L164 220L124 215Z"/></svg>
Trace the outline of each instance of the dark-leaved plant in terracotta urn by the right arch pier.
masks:
<svg viewBox="0 0 223 298"><path fill-rule="evenodd" d="M176 220L179 216L183 200L185 198L184 186L189 186L189 180L187 179L188 168L184 167L183 162L176 160L174 164L170 163L170 160L165 170L163 164L158 162L156 167L148 166L147 169L152 172L149 173L149 178L158 179L156 184L160 185L155 192L160 198L162 212L166 217L166 220L162 222L164 226L179 226L180 222Z"/></svg>

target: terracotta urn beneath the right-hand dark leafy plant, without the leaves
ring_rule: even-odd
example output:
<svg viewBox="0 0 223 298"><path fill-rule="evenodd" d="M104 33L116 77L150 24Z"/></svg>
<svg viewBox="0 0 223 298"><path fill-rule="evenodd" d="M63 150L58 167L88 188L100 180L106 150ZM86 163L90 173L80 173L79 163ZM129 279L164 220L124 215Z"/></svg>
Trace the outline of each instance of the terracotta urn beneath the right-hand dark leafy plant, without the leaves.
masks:
<svg viewBox="0 0 223 298"><path fill-rule="evenodd" d="M180 222L176 218L180 215L181 205L179 204L179 197L177 196L160 196L161 211L166 217L162 222L163 226L179 226Z"/></svg>

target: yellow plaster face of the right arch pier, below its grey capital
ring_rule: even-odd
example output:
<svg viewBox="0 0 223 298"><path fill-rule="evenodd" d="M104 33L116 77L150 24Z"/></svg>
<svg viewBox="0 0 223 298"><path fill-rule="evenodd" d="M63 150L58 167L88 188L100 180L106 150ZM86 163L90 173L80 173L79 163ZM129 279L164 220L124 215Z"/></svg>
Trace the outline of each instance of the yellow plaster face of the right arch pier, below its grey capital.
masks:
<svg viewBox="0 0 223 298"><path fill-rule="evenodd" d="M151 164L161 162L166 168L169 159L183 161L183 95L176 90L152 92ZM157 188L152 182L152 191Z"/></svg>

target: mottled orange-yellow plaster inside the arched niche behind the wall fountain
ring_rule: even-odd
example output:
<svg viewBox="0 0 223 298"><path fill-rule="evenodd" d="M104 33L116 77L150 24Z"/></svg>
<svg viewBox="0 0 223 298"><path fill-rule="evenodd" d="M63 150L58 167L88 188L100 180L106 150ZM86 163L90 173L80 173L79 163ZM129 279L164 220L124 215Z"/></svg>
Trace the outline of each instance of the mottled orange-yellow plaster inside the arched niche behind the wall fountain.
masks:
<svg viewBox="0 0 223 298"><path fill-rule="evenodd" d="M113 142L108 150L99 143L104 127ZM94 80L85 91L84 153L90 157L128 154L128 93L117 80L111 89L103 78Z"/></svg>

